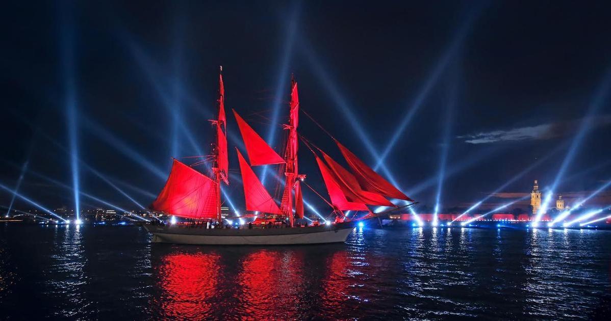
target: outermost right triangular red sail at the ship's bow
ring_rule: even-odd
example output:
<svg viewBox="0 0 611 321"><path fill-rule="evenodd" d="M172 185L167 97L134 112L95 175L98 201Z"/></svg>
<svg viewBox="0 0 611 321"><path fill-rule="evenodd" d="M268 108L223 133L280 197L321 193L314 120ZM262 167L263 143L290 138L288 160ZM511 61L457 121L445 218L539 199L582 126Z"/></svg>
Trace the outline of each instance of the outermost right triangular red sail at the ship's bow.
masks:
<svg viewBox="0 0 611 321"><path fill-rule="evenodd" d="M354 176L359 181L360 187L368 192L378 193L387 197L398 198L400 200L413 201L407 197L403 192L394 187L386 179L382 178L378 173L373 171L370 167L360 160L356 155L348 150L344 145L335 140L335 143L342 151L346 162L352 169Z"/></svg>

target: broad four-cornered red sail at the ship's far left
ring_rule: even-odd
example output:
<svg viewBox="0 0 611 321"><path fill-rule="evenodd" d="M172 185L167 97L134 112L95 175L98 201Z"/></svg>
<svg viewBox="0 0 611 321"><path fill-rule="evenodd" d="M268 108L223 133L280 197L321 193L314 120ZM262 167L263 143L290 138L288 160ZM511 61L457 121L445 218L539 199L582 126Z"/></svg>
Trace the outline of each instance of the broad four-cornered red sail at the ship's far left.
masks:
<svg viewBox="0 0 611 321"><path fill-rule="evenodd" d="M216 218L216 182L174 159L172 171L152 208L188 218Z"/></svg>

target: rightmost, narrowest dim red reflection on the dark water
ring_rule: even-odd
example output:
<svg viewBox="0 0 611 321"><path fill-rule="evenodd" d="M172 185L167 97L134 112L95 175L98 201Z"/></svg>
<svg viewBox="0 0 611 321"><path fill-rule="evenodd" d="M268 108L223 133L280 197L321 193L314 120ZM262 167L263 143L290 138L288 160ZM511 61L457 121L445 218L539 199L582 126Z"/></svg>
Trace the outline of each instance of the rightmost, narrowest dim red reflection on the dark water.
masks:
<svg viewBox="0 0 611 321"><path fill-rule="evenodd" d="M345 308L348 300L349 258L347 251L337 251L327 259L327 275L323 279L323 292L321 295L323 310L339 311Z"/></svg>

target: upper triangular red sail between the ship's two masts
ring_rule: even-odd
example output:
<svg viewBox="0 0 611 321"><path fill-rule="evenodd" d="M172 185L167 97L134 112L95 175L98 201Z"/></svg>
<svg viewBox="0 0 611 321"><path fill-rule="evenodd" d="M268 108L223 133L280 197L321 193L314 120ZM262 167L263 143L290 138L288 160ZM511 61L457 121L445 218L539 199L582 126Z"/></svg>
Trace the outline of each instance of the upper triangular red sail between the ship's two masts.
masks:
<svg viewBox="0 0 611 321"><path fill-rule="evenodd" d="M269 147L265 140L235 110L233 110L233 115L235 115L235 119L238 121L244 146L246 146L246 154L248 154L248 159L251 160L252 166L284 163L284 159Z"/></svg>

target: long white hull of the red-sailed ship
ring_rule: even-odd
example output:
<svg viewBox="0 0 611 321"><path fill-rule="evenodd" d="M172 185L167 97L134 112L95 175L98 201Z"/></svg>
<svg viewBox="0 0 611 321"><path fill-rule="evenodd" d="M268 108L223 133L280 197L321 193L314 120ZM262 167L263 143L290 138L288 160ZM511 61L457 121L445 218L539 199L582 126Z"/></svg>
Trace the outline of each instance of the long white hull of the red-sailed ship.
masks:
<svg viewBox="0 0 611 321"><path fill-rule="evenodd" d="M229 233L223 233L222 229L198 230L197 228L189 230L188 228L180 228L172 231L172 228L155 228L146 226L147 230L153 234L153 242L155 243L175 243L175 244L193 244L193 245L297 245L297 244L320 244L320 243L338 243L346 242L349 234L353 231L352 227L345 226L344 228L329 228L316 229L316 231L307 231L301 228L303 233L299 233L297 229L285 229L278 231L277 229L261 230L229 230ZM297 230L288 232L287 230ZM241 233L241 231L243 231ZM176 233L172 233L176 232ZM278 233L280 232L280 233ZM253 235L255 234L255 235Z"/></svg>

